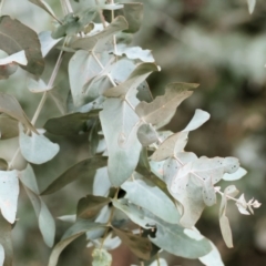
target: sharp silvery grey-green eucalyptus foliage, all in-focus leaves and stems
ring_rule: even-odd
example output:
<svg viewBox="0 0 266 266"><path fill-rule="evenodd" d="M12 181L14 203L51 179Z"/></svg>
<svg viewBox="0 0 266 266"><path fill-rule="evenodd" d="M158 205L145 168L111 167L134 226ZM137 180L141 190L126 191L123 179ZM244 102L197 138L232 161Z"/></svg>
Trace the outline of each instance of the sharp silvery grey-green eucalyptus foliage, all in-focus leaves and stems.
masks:
<svg viewBox="0 0 266 266"><path fill-rule="evenodd" d="M80 6L80 11L73 13L69 1L62 1L63 10L69 12L58 19L44 1L30 2L58 23L52 32L38 35L18 20L0 18L0 49L8 54L0 60L0 79L9 78L21 66L34 75L28 80L29 91L42 94L30 121L14 96L0 92L1 139L19 135L12 160L0 160L0 264L12 265L10 231L16 221L19 180L33 205L43 239L51 247L55 225L41 196L83 178L90 181L89 194L76 203L75 215L71 216L73 224L53 247L49 266L55 266L61 252L83 234L89 246L94 247L95 266L111 265L112 256L106 250L116 248L121 242L149 265L156 259L165 263L157 258L160 250L200 258L205 265L223 265L216 247L194 227L202 212L216 204L217 195L222 196L219 224L226 245L232 247L227 201L236 201L242 214L253 213L259 203L246 202L244 195L234 198L238 193L234 185L224 192L216 186L222 178L234 181L245 175L237 158L197 157L184 150L188 133L209 119L207 112L196 110L181 132L161 130L198 85L174 82L153 100L145 80L160 66L150 50L129 47L131 34L142 23L143 4L101 1L100 6L86 9ZM39 79L44 69L43 57L55 50L57 44L61 52L51 78ZM68 53L71 59L64 61ZM66 63L70 88L64 104L55 91L54 79L60 64ZM43 129L37 130L34 124L48 95L61 115L53 115ZM58 156L63 160L60 145L50 140L53 136L68 143L81 135L89 147L86 158L62 171L40 193L31 164L53 162ZM19 153L28 163L23 171L16 166ZM139 229L132 231L135 225Z"/></svg>

